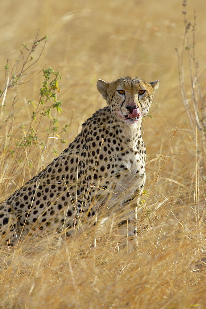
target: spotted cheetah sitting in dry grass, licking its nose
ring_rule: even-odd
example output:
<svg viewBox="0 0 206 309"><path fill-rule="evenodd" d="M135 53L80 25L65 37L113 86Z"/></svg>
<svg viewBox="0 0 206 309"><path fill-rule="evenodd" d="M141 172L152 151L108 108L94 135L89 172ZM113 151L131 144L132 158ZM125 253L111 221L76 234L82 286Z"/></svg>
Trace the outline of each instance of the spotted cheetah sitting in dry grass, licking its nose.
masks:
<svg viewBox="0 0 206 309"><path fill-rule="evenodd" d="M158 87L159 80L147 83L129 76L97 81L107 106L84 122L62 154L0 204L6 241L41 230L72 235L76 225L92 222L100 210L123 209L134 197L138 203L146 179L142 117ZM126 219L121 224L126 222L128 229L129 222L127 236L132 237L134 209Z"/></svg>

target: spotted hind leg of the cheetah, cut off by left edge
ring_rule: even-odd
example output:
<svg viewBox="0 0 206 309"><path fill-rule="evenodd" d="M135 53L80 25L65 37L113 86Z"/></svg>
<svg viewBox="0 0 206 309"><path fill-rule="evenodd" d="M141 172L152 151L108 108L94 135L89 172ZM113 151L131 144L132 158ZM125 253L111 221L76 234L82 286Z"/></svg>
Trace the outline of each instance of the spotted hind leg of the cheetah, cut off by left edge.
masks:
<svg viewBox="0 0 206 309"><path fill-rule="evenodd" d="M2 244L17 241L17 217L14 209L6 202L0 203L0 239Z"/></svg>

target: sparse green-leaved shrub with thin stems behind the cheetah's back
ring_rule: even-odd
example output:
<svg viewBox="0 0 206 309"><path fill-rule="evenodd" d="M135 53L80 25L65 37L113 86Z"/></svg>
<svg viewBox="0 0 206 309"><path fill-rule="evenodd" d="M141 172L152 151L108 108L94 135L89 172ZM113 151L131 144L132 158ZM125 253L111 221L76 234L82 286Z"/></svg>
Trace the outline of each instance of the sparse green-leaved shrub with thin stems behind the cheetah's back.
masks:
<svg viewBox="0 0 206 309"><path fill-rule="evenodd" d="M48 67L38 72L39 77L43 78L39 93L32 94L35 99L30 99L19 106L18 89L25 83L29 86L31 79L36 77L37 74L34 74L31 69L35 67L47 42L47 36L42 38L38 36L39 33L37 33L31 47L23 44L24 50L20 51L21 59L17 58L11 69L10 60L7 59L4 66L5 75L1 79L0 183L5 186L5 192L10 184L16 185L19 180L20 183L23 183L26 174L28 174L28 178L31 178L43 169L48 155L58 155L55 148L57 143L67 142L64 139L64 133L67 132L68 125L60 128L57 119L57 115L62 112L63 104L58 99L60 93L59 80L61 79L59 70L55 71ZM35 59L34 54L40 44L42 49ZM6 96L11 95L12 91L10 103L10 99L6 100ZM28 111L30 116L26 117ZM30 171L31 168L32 171ZM9 177L4 178L4 175L9 175ZM15 180L16 175L20 175L18 181Z"/></svg>

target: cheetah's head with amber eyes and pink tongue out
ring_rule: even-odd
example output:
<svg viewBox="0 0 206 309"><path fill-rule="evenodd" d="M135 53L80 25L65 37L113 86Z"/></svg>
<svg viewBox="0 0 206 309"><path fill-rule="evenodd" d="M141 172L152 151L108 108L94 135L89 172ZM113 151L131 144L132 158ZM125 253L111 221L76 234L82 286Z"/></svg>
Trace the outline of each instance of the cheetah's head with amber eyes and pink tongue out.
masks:
<svg viewBox="0 0 206 309"><path fill-rule="evenodd" d="M111 112L127 124L134 124L150 109L153 95L159 87L159 80L147 83L138 77L122 77L107 83L97 81L97 89L101 93Z"/></svg>

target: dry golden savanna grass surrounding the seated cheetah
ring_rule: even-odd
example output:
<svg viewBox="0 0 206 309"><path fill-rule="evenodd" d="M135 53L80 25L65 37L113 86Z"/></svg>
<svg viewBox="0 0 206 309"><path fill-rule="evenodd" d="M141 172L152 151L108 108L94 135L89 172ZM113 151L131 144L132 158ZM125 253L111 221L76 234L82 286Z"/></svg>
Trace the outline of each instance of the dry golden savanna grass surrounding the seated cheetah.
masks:
<svg viewBox="0 0 206 309"><path fill-rule="evenodd" d="M206 308L205 10L202 0L186 7L177 0L1 0L1 200L105 106L97 79L161 82L152 118L143 121L147 194L138 248L119 249L112 218L96 247L92 229L58 243L48 235L2 246L1 308ZM31 51L37 28L48 40ZM26 64L20 49L24 57L31 51ZM42 69L50 66L61 80L45 90Z"/></svg>

